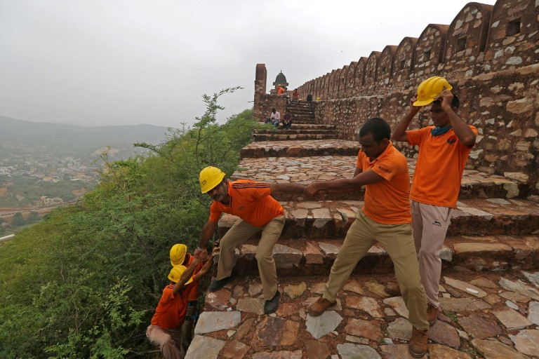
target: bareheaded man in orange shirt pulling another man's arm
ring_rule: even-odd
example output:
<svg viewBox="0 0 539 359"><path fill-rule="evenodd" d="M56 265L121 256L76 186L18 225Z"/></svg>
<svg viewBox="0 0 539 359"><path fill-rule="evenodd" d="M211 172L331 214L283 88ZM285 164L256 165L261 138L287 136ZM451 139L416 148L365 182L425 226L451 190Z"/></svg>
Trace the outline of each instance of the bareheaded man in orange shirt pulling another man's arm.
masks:
<svg viewBox="0 0 539 359"><path fill-rule="evenodd" d="M410 174L406 157L390 142L390 125L382 118L371 118L359 130L361 151L353 178L313 182L305 191L312 196L328 192L357 191L365 186L365 204L346 234L331 267L324 295L309 309L320 316L332 306L337 292L345 285L352 270L378 241L390 255L402 297L413 325L408 351L415 358L427 352L427 302L421 285L418 259L413 245L410 201Z"/></svg>

